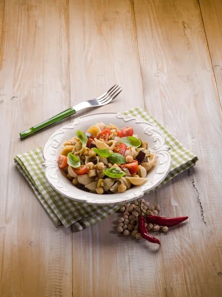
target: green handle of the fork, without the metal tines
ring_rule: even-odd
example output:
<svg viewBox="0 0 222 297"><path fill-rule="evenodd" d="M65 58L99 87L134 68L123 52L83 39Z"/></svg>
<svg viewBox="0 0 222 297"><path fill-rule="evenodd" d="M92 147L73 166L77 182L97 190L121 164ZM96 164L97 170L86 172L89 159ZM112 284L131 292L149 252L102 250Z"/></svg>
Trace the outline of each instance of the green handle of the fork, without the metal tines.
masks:
<svg viewBox="0 0 222 297"><path fill-rule="evenodd" d="M68 116L70 116L72 114L75 114L75 113L76 113L76 110L73 109L72 107L70 107L70 108L56 114L55 116L51 117L50 119L48 119L48 120L46 120L46 121L44 121L44 122L30 128L28 130L26 130L26 131L23 131L23 132L19 133L19 136L21 138L25 138L25 137L27 137L27 136L29 136L31 134L34 134L35 132L37 132L37 131L39 131L41 129L43 129L43 128L51 125L51 124L54 124L56 122L59 122L59 121L63 120L64 118L66 118L66 117L68 117Z"/></svg>

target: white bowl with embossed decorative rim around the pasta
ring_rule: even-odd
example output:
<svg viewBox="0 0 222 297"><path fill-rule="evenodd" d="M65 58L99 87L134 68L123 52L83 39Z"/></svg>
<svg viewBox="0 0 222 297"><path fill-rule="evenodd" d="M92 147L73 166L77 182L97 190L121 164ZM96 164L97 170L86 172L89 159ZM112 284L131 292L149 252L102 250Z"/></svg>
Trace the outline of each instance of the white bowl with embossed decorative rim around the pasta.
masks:
<svg viewBox="0 0 222 297"><path fill-rule="evenodd" d="M90 126L99 121L106 125L112 123L118 128L133 127L134 134L147 142L151 151L157 153L156 165L148 172L146 183L134 186L125 193L98 195L79 190L62 174L57 165L62 144L67 139L74 137L76 130L88 130ZM171 155L168 150L170 148L166 146L162 132L143 119L117 112L93 113L79 117L72 123L58 129L46 142L43 149L45 177L57 192L70 199L97 205L122 203L142 197L165 179L171 165Z"/></svg>

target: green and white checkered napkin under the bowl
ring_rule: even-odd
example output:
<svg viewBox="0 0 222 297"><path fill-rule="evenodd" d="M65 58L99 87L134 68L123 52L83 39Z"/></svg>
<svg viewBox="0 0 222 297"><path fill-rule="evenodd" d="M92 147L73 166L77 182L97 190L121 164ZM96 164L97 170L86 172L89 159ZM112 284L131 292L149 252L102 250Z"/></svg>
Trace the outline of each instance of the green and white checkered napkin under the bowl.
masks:
<svg viewBox="0 0 222 297"><path fill-rule="evenodd" d="M153 117L151 117L141 107L134 108L124 113L140 117L149 121L154 126L158 126L164 133L166 144L171 147L170 154L172 157L171 169L166 179L159 187L180 172L195 165L198 160L197 156L183 147L172 135L170 135ZM28 152L18 154L14 162L25 179L28 181L33 191L36 193L44 209L47 211L55 225L65 227L75 224L79 230L84 227L90 227L110 214L117 211L122 205L97 206L87 203L73 201L57 193L45 179L44 162L42 157L42 148L36 148Z"/></svg>

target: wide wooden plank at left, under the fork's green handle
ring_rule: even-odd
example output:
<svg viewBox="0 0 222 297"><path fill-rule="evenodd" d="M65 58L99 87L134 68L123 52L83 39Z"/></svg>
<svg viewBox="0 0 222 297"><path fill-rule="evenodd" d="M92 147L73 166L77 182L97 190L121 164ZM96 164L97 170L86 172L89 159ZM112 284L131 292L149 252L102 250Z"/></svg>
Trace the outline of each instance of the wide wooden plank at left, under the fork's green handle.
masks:
<svg viewBox="0 0 222 297"><path fill-rule="evenodd" d="M6 0L2 31L0 296L71 297L71 228L54 226L13 165L64 124L19 139L70 104L67 3Z"/></svg>

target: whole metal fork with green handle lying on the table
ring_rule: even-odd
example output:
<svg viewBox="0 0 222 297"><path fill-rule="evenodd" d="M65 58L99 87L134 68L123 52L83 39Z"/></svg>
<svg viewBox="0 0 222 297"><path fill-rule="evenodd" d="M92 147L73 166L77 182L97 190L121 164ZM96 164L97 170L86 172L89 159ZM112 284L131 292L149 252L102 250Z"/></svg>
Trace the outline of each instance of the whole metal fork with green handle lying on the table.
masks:
<svg viewBox="0 0 222 297"><path fill-rule="evenodd" d="M55 116L51 117L50 119L47 119L46 121L26 130L19 134L21 138L25 138L31 134L34 134L35 132L51 125L56 122L59 122L63 120L64 118L75 114L77 111L80 111L84 108L88 107L96 107L96 106L102 106L110 103L113 99L115 99L121 92L121 88L118 85L114 85L112 88L110 88L106 93L102 94L101 96L97 97L96 99L91 99L88 101L81 102L73 107L70 107Z"/></svg>

